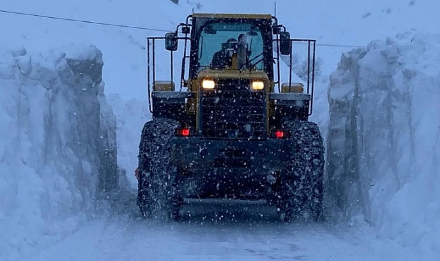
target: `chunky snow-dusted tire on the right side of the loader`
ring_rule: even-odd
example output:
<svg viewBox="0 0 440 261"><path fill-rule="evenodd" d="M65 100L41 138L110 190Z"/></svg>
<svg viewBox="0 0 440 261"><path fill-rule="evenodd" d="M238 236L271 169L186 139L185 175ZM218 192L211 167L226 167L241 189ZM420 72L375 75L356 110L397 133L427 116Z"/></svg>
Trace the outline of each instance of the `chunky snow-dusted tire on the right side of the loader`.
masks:
<svg viewBox="0 0 440 261"><path fill-rule="evenodd" d="M281 173L277 210L284 222L318 221L322 213L324 179L324 145L316 123L286 121L295 142L295 152L288 167Z"/></svg>

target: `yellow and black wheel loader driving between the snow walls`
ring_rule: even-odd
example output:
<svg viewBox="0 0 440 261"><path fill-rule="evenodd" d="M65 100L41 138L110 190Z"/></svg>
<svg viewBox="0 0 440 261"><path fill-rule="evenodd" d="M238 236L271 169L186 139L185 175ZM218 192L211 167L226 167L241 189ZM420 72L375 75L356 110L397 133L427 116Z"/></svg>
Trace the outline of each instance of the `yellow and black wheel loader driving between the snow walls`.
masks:
<svg viewBox="0 0 440 261"><path fill-rule="evenodd" d="M159 41L169 53L156 50ZM305 50L302 80L292 73L297 46ZM315 47L260 14L192 14L174 32L148 37L152 119L136 170L141 215L179 220L190 200L234 199L274 205L283 222L318 220L324 147L308 120ZM167 73L156 69L160 52ZM167 79L157 80L159 72Z"/></svg>

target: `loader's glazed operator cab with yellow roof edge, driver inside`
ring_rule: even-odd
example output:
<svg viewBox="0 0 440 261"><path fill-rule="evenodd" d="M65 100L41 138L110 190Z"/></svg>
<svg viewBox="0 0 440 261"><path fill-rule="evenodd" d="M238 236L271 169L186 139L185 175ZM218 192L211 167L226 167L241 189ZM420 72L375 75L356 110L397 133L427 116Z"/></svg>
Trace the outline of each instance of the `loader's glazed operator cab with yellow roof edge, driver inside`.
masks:
<svg viewBox="0 0 440 261"><path fill-rule="evenodd" d="M273 79L272 16L193 14L190 78L204 69L264 71ZM215 66L215 54L230 60ZM219 56L219 55L217 55Z"/></svg>

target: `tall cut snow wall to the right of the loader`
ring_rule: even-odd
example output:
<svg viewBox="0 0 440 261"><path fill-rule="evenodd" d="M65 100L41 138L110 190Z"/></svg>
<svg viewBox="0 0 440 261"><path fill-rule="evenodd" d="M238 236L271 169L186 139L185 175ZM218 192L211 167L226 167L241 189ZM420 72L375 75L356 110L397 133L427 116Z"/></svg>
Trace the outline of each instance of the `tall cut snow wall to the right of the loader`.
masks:
<svg viewBox="0 0 440 261"><path fill-rule="evenodd" d="M363 212L381 235L438 257L440 35L398 41L343 54L330 77L328 194L345 218Z"/></svg>

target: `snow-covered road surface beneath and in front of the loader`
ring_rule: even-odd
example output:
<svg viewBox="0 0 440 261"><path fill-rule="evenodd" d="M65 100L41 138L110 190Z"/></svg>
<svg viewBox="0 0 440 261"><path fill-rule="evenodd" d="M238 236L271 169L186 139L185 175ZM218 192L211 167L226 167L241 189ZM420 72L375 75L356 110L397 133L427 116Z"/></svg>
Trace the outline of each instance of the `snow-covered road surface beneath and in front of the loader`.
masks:
<svg viewBox="0 0 440 261"><path fill-rule="evenodd" d="M275 209L241 207L246 214L193 208L180 223L96 220L27 260L416 260L397 243L374 239L369 228L283 224L271 215Z"/></svg>

